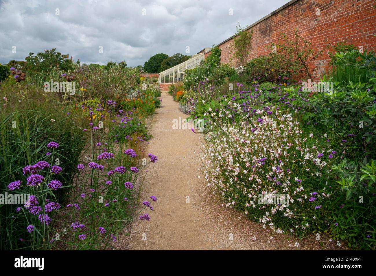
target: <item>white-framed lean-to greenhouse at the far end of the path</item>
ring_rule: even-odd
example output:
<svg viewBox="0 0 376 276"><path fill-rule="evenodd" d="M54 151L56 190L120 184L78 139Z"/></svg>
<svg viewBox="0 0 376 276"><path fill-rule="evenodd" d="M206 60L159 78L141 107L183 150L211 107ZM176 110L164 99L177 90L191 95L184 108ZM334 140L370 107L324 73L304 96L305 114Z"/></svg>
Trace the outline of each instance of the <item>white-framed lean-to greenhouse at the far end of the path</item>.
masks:
<svg viewBox="0 0 376 276"><path fill-rule="evenodd" d="M183 78L185 70L193 69L205 59L204 53L198 53L190 57L183 63L175 65L159 73L158 83L177 83Z"/></svg>

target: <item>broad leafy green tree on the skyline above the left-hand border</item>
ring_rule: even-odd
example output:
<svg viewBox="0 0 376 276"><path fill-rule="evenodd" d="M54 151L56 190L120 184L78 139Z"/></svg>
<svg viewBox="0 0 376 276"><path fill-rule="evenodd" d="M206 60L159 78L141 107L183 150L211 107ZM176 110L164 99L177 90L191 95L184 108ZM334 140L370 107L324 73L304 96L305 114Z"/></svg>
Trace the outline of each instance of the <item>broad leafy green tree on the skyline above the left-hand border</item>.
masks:
<svg viewBox="0 0 376 276"><path fill-rule="evenodd" d="M56 49L44 50L34 55L30 53L25 58L27 71L31 72L47 72L53 69L60 69L62 71L73 70L75 68L73 57L69 58L69 55L62 55L60 52L56 52ZM76 62L79 64L79 61Z"/></svg>

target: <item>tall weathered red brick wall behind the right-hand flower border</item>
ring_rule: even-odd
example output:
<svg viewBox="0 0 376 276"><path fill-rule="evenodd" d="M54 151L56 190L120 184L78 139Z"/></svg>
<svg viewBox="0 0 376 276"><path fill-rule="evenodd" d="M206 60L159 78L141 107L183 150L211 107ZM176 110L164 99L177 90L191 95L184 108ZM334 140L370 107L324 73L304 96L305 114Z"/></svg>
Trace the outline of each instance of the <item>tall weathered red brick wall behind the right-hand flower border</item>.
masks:
<svg viewBox="0 0 376 276"><path fill-rule="evenodd" d="M374 0L298 0L247 30L253 30L252 50L247 60L267 55L271 51L267 46L282 39L281 33L292 38L297 28L299 35L311 42L313 48L324 49L324 55L315 61L320 65L315 73L317 78L329 69L325 48L328 44L347 40L357 47L376 51L375 4ZM316 9L320 15L316 14ZM237 60L231 60L232 44L233 39L230 39L218 45L222 50L221 63L237 66Z"/></svg>

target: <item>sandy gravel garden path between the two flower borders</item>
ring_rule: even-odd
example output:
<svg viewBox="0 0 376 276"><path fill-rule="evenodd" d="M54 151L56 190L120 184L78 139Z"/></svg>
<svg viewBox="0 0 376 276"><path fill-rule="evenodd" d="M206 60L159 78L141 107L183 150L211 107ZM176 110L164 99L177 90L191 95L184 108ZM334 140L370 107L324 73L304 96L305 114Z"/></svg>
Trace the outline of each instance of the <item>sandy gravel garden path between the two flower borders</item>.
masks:
<svg viewBox="0 0 376 276"><path fill-rule="evenodd" d="M314 236L298 241L263 229L241 212L221 206L221 199L212 195L205 179L198 178L199 159L194 151L199 150L200 134L173 129L173 119L188 116L179 111L179 104L166 92L162 92L161 99L162 105L150 122L153 139L147 149L158 156L158 162L148 166L140 197L149 199L155 210L145 209L150 221L133 222L126 246L129 250L340 249L323 237L320 246ZM151 201L151 195L158 201ZM300 243L299 247L295 242Z"/></svg>

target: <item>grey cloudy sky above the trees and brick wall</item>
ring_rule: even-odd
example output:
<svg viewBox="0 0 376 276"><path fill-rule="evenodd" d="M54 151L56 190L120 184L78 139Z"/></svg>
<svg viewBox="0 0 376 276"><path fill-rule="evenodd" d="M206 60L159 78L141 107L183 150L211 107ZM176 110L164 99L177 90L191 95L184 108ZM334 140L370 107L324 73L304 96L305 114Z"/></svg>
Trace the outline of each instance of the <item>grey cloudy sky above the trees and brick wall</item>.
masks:
<svg viewBox="0 0 376 276"><path fill-rule="evenodd" d="M238 22L248 26L287 2L0 0L0 63L52 48L81 63L129 66L161 52L192 55L235 34Z"/></svg>

